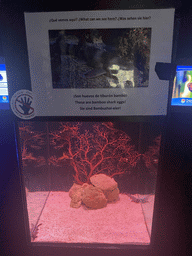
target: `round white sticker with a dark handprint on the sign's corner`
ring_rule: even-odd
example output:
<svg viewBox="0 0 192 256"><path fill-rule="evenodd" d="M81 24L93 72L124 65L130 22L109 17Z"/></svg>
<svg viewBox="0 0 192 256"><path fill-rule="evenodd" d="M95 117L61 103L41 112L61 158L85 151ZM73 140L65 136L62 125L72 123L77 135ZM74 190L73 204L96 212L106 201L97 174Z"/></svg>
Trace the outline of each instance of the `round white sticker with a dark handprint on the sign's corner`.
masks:
<svg viewBox="0 0 192 256"><path fill-rule="evenodd" d="M13 113L21 119L31 119L35 117L33 94L31 91L17 91L11 98L10 105Z"/></svg>

